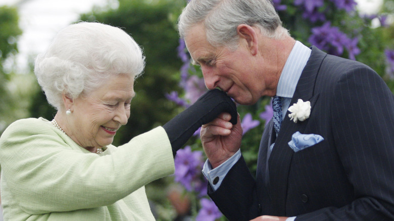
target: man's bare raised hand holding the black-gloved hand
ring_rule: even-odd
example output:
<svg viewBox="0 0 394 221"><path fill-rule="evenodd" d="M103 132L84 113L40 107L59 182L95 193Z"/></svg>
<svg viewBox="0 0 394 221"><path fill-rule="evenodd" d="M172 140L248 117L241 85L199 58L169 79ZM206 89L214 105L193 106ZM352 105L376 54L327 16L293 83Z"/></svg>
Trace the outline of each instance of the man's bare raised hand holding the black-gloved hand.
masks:
<svg viewBox="0 0 394 221"><path fill-rule="evenodd" d="M201 128L200 137L203 148L213 168L218 167L240 148L242 127L239 115L235 125L229 122L230 119L231 115L222 113Z"/></svg>

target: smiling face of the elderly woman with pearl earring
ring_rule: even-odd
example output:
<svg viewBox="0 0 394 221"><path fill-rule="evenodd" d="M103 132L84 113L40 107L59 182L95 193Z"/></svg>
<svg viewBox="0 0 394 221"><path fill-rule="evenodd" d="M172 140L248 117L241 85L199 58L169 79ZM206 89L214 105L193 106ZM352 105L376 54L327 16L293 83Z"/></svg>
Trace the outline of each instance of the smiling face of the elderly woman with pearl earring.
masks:
<svg viewBox="0 0 394 221"><path fill-rule="evenodd" d="M67 134L80 146L90 149L113 142L116 131L130 117L134 78L118 75L99 89L73 100L67 116Z"/></svg>

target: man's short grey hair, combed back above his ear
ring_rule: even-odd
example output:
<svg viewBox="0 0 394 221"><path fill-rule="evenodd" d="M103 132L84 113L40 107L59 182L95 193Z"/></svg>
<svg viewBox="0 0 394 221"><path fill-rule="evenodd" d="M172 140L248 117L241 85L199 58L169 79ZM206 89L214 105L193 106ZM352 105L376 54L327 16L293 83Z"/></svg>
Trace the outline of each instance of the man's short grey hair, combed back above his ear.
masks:
<svg viewBox="0 0 394 221"><path fill-rule="evenodd" d="M270 0L191 0L178 19L180 37L201 23L210 44L233 49L237 47L236 28L240 24L258 27L270 38L289 36Z"/></svg>

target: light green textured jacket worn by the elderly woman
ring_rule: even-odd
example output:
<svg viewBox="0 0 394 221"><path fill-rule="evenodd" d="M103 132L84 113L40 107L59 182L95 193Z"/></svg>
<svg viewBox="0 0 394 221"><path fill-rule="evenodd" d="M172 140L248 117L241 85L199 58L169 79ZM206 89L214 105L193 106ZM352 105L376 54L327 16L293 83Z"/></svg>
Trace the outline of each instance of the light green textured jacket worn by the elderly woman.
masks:
<svg viewBox="0 0 394 221"><path fill-rule="evenodd" d="M155 220L144 185L174 173L162 127L103 153L87 151L45 119L23 119L0 138L4 219Z"/></svg>

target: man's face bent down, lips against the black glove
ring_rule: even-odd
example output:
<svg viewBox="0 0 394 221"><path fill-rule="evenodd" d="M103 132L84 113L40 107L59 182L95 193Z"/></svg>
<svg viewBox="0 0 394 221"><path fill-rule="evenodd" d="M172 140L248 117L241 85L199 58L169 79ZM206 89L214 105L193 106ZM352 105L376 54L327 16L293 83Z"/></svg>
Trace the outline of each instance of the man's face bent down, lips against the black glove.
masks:
<svg viewBox="0 0 394 221"><path fill-rule="evenodd" d="M247 105L256 103L264 95L262 64L258 64L257 56L251 53L243 38L234 51L214 47L207 41L204 26L200 24L190 29L185 43L194 63L201 66L208 89L218 87L236 102Z"/></svg>

